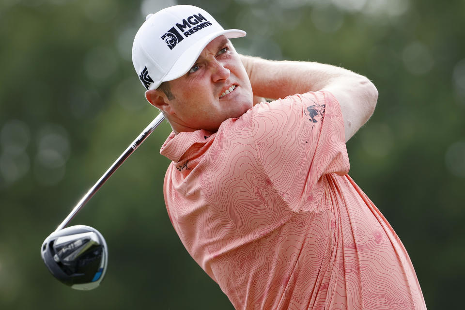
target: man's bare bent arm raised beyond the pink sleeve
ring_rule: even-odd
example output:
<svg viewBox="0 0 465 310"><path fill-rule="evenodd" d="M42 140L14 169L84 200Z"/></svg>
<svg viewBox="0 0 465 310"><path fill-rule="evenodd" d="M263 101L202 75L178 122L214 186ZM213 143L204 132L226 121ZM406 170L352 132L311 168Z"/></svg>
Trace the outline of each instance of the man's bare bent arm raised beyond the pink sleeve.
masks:
<svg viewBox="0 0 465 310"><path fill-rule="evenodd" d="M318 62L269 61L243 56L254 96L284 98L295 93L326 90L338 99L349 140L373 114L378 91L366 77Z"/></svg>

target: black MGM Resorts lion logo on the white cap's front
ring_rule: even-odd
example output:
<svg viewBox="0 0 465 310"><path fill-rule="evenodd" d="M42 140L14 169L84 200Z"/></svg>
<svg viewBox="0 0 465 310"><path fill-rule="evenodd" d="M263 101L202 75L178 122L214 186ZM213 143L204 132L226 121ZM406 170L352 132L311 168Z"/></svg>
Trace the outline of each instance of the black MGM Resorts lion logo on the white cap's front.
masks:
<svg viewBox="0 0 465 310"><path fill-rule="evenodd" d="M204 20L204 22L202 22L202 20ZM187 37L208 26L212 26L212 23L203 17L202 14L194 14L193 16L183 19L182 24L176 23L175 26L171 27L170 30L161 36L161 39L165 41L166 45L170 47L170 49L173 49L176 44L184 40L181 33ZM181 33L179 33L175 27L177 27Z"/></svg>

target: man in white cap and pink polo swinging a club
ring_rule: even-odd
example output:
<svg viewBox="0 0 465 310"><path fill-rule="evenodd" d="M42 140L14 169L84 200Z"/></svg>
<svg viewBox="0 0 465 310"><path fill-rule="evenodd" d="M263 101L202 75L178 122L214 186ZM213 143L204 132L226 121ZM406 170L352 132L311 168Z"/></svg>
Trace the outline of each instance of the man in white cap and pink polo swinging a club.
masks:
<svg viewBox="0 0 465 310"><path fill-rule="evenodd" d="M376 88L239 55L229 38L244 35L182 5L134 40L146 98L173 129L165 202L187 251L236 309L426 309L401 241L347 175L345 142Z"/></svg>

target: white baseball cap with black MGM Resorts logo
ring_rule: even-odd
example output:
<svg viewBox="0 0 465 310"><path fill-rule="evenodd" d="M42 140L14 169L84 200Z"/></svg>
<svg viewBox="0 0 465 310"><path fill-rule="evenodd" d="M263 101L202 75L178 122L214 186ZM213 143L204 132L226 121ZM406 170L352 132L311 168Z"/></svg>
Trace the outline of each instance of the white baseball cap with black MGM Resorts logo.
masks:
<svg viewBox="0 0 465 310"><path fill-rule="evenodd" d="M224 30L213 16L192 5L175 5L149 14L132 46L132 62L142 85L153 90L162 82L183 76L203 48L222 34L238 38L246 32Z"/></svg>

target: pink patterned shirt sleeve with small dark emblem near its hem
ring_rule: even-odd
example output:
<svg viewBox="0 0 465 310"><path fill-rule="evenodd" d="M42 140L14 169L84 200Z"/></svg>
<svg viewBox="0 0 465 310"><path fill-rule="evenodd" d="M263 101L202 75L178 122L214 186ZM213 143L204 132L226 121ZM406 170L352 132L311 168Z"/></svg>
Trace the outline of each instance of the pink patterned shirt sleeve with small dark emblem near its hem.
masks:
<svg viewBox="0 0 465 310"><path fill-rule="evenodd" d="M331 93L295 94L249 112L258 159L294 211L318 204L324 175L348 173L344 122Z"/></svg>

